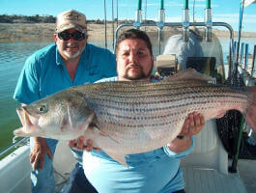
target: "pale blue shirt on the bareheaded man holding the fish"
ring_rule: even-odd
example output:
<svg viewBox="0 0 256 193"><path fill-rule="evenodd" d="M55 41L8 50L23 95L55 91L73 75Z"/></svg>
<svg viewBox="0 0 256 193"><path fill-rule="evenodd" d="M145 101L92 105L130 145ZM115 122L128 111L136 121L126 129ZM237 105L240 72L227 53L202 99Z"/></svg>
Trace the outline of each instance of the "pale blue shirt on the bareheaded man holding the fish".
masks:
<svg viewBox="0 0 256 193"><path fill-rule="evenodd" d="M98 82L117 81L117 77ZM156 80L152 80L156 81ZM171 193L185 188L180 168L185 152L172 152L167 146L151 152L128 154L128 168L116 162L105 152L84 152L84 172L100 193Z"/></svg>

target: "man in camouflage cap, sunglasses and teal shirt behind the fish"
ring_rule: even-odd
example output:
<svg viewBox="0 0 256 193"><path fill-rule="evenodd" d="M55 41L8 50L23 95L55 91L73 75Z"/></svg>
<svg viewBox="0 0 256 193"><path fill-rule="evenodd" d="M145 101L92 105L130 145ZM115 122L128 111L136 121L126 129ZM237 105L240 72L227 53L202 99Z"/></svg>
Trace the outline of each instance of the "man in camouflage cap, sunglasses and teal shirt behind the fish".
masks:
<svg viewBox="0 0 256 193"><path fill-rule="evenodd" d="M55 43L36 51L26 60L17 81L14 99L26 105L71 86L92 83L102 77L116 75L115 55L87 43L87 39L84 14L73 10L58 14ZM33 193L54 192L51 158L57 143L58 141L53 139L31 138ZM77 161L82 162L82 152L73 153ZM71 191L79 192L74 189Z"/></svg>

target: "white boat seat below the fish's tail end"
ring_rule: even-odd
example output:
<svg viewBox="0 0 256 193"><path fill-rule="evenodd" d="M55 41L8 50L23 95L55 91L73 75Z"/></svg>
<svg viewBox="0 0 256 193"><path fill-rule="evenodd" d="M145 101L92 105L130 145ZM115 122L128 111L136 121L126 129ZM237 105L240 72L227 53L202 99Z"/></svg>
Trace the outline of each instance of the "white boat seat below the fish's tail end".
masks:
<svg viewBox="0 0 256 193"><path fill-rule="evenodd" d="M196 135L193 151L182 160L188 193L244 193L238 174L228 173L228 153L216 131L215 120L207 121Z"/></svg>

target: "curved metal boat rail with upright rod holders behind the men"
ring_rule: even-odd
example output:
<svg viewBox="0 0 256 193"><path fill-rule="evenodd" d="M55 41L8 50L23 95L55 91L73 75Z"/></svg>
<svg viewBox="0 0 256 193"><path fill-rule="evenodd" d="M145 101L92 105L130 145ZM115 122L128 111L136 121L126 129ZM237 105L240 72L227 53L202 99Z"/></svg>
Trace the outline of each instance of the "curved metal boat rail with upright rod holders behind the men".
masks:
<svg viewBox="0 0 256 193"><path fill-rule="evenodd" d="M146 3L147 5L147 3ZM138 6L137 9L135 10L135 17L134 17L134 22L133 23L123 23L119 25L116 28L115 31L115 40L114 40L114 47L113 50L116 52L116 45L117 45L117 40L119 36L119 31L123 27L133 27L140 29L141 27L156 27L158 31L158 54L161 54L161 40L163 38L163 27L182 27L183 28L183 39L184 41L188 41L189 37L189 27L192 26L202 26L205 27L206 29L206 41L212 41L212 27L217 26L217 27L226 27L229 32L230 32L230 46L229 46L229 74L231 74L231 71L233 71L233 63L234 63L234 56L232 55L232 46L233 46L233 39L234 39L234 31L231 25L225 22L213 22L212 19L212 8L211 8L211 0L206 1L206 8L205 8L205 16L204 16L204 21L205 22L195 22L193 19L193 22L189 21L189 9L188 9L188 1L184 1L184 9L183 9L183 18L182 22L165 22L165 9L164 9L164 1L160 1L160 7L158 10L158 18L156 22L147 22L146 20L146 15L145 15L145 22L142 21L142 1L138 0ZM194 12L193 12L194 14ZM113 36L114 37L114 36Z"/></svg>

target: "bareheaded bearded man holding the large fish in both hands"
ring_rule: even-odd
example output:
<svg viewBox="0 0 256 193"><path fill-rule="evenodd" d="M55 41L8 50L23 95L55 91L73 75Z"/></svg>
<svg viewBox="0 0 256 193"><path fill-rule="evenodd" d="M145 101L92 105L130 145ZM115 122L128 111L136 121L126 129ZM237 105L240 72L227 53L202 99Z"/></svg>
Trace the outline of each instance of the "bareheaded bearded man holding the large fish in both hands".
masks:
<svg viewBox="0 0 256 193"><path fill-rule="evenodd" d="M118 77L106 81L157 81L151 78L154 64L152 44L146 33L130 29L120 35L116 51ZM188 115L179 137L151 152L126 155L128 168L103 151L93 150L93 141L83 144L83 137L70 142L71 147L87 150L83 154L86 177L99 192L185 192L180 168L181 158L191 152L193 135L205 124L196 112ZM78 142L78 143L77 143ZM90 152L91 151L91 152Z"/></svg>

